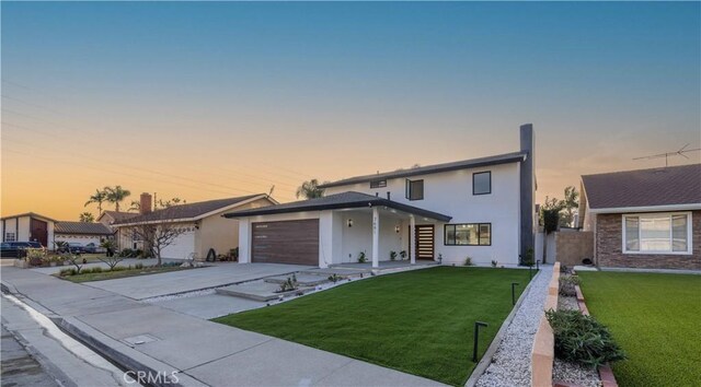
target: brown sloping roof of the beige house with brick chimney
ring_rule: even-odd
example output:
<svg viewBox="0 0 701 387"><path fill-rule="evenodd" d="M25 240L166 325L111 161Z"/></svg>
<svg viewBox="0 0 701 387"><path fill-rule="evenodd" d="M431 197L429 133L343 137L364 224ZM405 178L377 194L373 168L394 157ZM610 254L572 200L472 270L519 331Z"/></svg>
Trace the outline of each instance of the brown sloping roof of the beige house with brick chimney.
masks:
<svg viewBox="0 0 701 387"><path fill-rule="evenodd" d="M265 194L256 194L242 196L237 198L217 199L208 201L199 201L196 203L187 203L180 206L172 206L166 209L157 210L143 215L124 219L122 221L115 221L113 225L125 225L136 223L149 223L149 222L162 222L174 220L194 220L210 212L225 209L227 207L243 203L249 200L267 198Z"/></svg>

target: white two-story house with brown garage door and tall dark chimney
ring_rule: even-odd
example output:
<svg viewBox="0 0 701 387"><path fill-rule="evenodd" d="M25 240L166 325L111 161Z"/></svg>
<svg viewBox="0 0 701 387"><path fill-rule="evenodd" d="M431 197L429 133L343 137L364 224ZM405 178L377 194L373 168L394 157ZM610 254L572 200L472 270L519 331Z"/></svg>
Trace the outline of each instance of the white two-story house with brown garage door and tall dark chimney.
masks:
<svg viewBox="0 0 701 387"><path fill-rule="evenodd" d="M372 267L392 251L416 260L519 265L535 245L536 174L531 125L520 150L487 157L352 177L321 186L324 197L233 211L241 262Z"/></svg>

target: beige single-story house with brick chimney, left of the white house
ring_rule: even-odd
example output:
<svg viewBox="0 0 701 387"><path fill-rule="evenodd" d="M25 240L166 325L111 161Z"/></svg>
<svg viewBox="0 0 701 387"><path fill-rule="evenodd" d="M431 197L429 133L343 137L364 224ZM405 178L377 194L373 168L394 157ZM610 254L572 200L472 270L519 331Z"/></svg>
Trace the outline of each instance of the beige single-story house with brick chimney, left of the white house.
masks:
<svg viewBox="0 0 701 387"><path fill-rule="evenodd" d="M239 222L222 218L223 213L273 204L277 204L277 201L265 194L258 194L151 211L151 195L141 194L140 213L136 216L116 216L118 219L112 221L112 227L117 231L120 249L142 249L142 241L133 232L135 226L141 224L176 226L181 228L182 234L161 251L161 258L188 259L194 254L196 258L204 259L210 249L218 255L228 254L231 249L239 247ZM113 215L111 216L115 218Z"/></svg>

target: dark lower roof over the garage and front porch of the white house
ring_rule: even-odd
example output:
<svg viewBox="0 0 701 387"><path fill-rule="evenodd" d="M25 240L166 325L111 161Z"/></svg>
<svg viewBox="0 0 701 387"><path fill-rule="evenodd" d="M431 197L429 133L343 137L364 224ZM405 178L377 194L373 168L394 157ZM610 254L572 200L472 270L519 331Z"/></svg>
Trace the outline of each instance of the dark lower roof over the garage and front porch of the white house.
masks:
<svg viewBox="0 0 701 387"><path fill-rule="evenodd" d="M291 203L269 206L260 209L235 211L225 214L226 218L243 218L254 215L267 215L274 213L290 213L302 211L322 211L349 208L389 207L395 210L413 213L424 218L430 218L443 222L450 221L451 216L421 209L418 207L403 204L389 199L355 191L329 195L322 198L294 201Z"/></svg>

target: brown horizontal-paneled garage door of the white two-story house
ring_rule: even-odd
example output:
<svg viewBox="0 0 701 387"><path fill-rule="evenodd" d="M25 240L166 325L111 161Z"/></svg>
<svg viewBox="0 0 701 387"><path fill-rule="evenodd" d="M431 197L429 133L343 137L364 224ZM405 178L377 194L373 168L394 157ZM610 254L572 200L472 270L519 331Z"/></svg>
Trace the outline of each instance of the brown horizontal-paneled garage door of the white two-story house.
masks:
<svg viewBox="0 0 701 387"><path fill-rule="evenodd" d="M319 265L319 220L252 224L252 261Z"/></svg>

